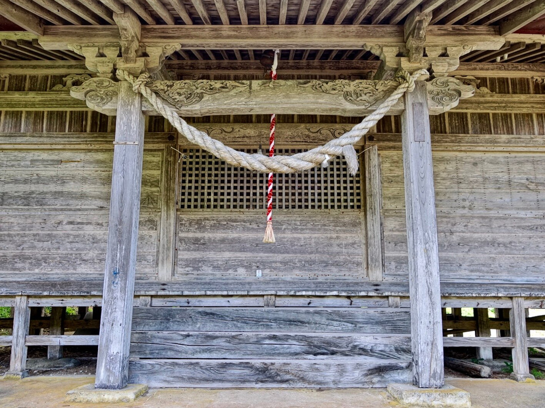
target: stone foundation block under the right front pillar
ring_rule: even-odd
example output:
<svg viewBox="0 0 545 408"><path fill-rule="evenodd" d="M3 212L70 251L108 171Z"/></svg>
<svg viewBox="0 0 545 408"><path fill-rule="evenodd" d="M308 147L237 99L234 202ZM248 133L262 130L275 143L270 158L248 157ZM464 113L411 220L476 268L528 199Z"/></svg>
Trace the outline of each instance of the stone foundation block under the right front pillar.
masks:
<svg viewBox="0 0 545 408"><path fill-rule="evenodd" d="M388 392L404 406L426 408L470 408L469 393L444 385L441 388L419 388L411 384L390 384Z"/></svg>

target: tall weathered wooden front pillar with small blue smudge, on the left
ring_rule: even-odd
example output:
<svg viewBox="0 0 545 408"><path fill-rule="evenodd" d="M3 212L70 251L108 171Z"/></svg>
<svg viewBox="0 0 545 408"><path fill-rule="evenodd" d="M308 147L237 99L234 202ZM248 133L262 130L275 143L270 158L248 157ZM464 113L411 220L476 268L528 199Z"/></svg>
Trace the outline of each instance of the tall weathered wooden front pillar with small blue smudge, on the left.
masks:
<svg viewBox="0 0 545 408"><path fill-rule="evenodd" d="M127 385L144 147L141 106L141 95L120 82L96 388Z"/></svg>

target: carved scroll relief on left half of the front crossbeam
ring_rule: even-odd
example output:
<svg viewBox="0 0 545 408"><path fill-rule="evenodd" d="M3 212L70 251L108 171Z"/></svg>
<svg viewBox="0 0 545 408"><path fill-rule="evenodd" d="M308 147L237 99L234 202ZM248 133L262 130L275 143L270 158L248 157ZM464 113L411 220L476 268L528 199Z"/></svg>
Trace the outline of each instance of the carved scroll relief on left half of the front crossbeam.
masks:
<svg viewBox="0 0 545 408"><path fill-rule="evenodd" d="M249 82L237 81L154 81L148 87L174 107L200 102L204 95L214 95L219 92L229 92L235 88L248 87Z"/></svg>

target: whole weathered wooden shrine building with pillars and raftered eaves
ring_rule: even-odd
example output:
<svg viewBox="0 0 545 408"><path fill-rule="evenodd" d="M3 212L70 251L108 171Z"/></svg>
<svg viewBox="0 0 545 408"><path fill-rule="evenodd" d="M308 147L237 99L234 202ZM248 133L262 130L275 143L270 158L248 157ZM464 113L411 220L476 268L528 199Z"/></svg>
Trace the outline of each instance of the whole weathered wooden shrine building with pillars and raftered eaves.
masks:
<svg viewBox="0 0 545 408"><path fill-rule="evenodd" d="M444 347L506 347L531 377L545 2L0 0L0 15L9 375L28 346L98 345L107 389L438 388ZM267 154L275 113L281 160L407 88L355 154L275 174L273 244L268 170L217 158L142 95L249 154ZM78 328L95 334L64 334Z"/></svg>

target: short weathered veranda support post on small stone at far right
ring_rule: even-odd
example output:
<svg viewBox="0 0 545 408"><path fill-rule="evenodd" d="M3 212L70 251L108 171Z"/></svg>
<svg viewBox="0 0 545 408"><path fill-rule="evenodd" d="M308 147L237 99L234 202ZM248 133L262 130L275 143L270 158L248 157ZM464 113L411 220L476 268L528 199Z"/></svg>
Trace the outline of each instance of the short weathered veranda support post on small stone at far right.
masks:
<svg viewBox="0 0 545 408"><path fill-rule="evenodd" d="M524 314L524 298L513 297L513 307L509 313L509 326L513 337L513 373L516 381L534 379L528 364L528 338L526 337L526 315Z"/></svg>

